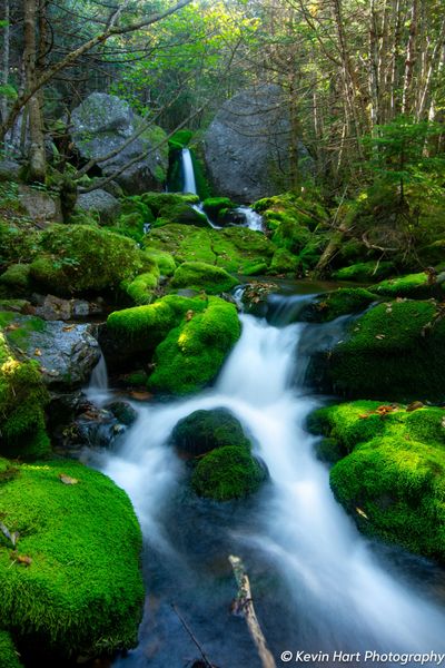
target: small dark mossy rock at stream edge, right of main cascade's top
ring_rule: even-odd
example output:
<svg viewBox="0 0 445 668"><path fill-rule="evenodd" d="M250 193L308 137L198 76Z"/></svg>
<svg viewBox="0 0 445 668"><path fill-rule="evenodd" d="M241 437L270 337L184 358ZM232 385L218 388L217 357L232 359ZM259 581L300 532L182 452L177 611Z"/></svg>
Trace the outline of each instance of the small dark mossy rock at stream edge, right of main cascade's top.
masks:
<svg viewBox="0 0 445 668"><path fill-rule="evenodd" d="M365 311L377 297L363 287L340 287L317 297L299 314L299 320L326 323L342 315Z"/></svg>

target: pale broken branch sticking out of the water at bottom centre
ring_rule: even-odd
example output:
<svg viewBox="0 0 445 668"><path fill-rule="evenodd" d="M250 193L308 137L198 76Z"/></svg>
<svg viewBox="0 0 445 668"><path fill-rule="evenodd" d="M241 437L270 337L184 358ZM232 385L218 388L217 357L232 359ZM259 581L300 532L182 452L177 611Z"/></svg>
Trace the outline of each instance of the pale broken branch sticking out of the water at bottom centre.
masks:
<svg viewBox="0 0 445 668"><path fill-rule="evenodd" d="M264 637L255 612L254 601L251 600L250 582L243 561L239 557L235 557L234 554L230 554L229 561L238 584L238 593L234 601L234 611L236 613L244 613L246 617L247 628L249 629L251 639L257 648L263 668L276 668L275 659L267 647L266 638Z"/></svg>

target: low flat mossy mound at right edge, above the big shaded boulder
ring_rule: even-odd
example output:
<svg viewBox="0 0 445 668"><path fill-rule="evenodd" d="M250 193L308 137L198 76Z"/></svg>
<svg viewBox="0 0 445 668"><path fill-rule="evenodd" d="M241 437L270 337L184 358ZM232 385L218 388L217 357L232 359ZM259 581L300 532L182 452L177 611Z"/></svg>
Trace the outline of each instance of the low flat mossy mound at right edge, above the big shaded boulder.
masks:
<svg viewBox="0 0 445 668"><path fill-rule="evenodd" d="M445 273L429 278L426 272L408 274L399 278L382 281L372 288L376 295L383 297L409 297L414 299L427 299L428 297L445 297Z"/></svg>

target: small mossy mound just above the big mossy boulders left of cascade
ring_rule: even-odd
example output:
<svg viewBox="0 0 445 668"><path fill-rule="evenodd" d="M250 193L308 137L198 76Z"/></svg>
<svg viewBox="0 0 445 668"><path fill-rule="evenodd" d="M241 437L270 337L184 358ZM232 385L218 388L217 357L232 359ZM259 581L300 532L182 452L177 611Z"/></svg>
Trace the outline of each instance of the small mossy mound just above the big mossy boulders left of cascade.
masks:
<svg viewBox="0 0 445 668"><path fill-rule="evenodd" d="M192 289L205 289L207 294L220 294L229 292L238 284L221 267L215 267L204 262L185 262L176 269L171 281L171 287L189 287Z"/></svg>

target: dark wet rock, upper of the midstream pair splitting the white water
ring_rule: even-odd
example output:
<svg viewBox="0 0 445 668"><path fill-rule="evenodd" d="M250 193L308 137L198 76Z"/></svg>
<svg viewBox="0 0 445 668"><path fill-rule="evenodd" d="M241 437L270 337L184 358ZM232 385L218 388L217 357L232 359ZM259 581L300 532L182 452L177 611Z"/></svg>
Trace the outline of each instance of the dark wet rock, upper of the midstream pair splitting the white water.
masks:
<svg viewBox="0 0 445 668"><path fill-rule="evenodd" d="M250 442L239 420L227 409L190 413L176 424L171 442L180 452L191 456L226 445L250 450Z"/></svg>

